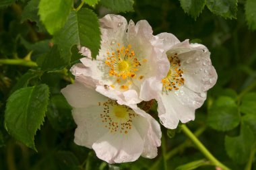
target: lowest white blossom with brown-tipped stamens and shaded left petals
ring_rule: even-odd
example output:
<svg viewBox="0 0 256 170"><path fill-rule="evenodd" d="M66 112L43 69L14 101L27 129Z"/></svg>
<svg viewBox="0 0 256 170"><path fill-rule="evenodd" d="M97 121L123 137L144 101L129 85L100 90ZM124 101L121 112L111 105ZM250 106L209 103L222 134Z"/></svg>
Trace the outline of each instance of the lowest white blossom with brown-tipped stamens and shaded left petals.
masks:
<svg viewBox="0 0 256 170"><path fill-rule="evenodd" d="M93 148L108 163L156 157L161 143L158 122L137 105L119 105L98 93L96 83L90 77L75 77L75 83L61 90L73 108L75 143Z"/></svg>

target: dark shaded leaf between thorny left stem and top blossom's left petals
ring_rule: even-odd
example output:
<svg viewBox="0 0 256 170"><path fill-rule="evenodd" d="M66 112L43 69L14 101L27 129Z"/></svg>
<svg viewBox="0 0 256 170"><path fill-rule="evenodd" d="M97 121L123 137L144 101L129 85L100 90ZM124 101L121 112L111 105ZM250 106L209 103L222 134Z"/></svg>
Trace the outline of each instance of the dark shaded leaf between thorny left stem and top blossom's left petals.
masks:
<svg viewBox="0 0 256 170"><path fill-rule="evenodd" d="M59 54L59 50L57 46L53 46L51 51L43 56L41 63L38 62L38 66L41 67L42 70L61 70L65 66L69 65L68 58L61 58Z"/></svg>

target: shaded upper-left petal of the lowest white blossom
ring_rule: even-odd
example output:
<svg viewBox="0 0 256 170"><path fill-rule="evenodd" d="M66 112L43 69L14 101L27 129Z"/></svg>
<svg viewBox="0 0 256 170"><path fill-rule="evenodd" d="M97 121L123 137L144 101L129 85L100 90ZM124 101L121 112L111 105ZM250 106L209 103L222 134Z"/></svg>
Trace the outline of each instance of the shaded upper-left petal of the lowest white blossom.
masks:
<svg viewBox="0 0 256 170"><path fill-rule="evenodd" d="M61 89L61 93L74 108L86 108L89 105L95 105L106 100L106 97L96 93L93 87L86 86L79 81L75 81L72 85L67 85L67 87Z"/></svg>

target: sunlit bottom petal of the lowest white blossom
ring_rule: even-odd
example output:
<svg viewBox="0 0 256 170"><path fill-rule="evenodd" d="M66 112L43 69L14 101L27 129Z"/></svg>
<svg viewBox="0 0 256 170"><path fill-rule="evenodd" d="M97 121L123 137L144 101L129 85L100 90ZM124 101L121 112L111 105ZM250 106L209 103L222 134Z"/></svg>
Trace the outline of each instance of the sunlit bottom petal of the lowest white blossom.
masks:
<svg viewBox="0 0 256 170"><path fill-rule="evenodd" d="M143 140L135 128L128 134L107 133L98 139L92 148L98 158L108 163L135 161L143 151Z"/></svg>

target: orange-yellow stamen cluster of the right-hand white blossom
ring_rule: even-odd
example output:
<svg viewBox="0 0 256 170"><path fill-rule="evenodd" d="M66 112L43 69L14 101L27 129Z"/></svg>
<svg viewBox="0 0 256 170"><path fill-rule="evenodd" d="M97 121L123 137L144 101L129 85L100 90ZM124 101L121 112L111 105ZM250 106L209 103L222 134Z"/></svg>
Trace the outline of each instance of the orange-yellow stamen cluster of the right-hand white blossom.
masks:
<svg viewBox="0 0 256 170"><path fill-rule="evenodd" d="M168 56L170 69L167 76L162 79L163 91L179 90L179 86L184 85L183 71L181 70L181 60L177 57L177 53Z"/></svg>

